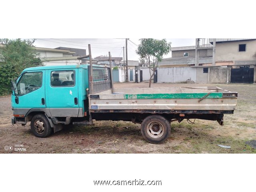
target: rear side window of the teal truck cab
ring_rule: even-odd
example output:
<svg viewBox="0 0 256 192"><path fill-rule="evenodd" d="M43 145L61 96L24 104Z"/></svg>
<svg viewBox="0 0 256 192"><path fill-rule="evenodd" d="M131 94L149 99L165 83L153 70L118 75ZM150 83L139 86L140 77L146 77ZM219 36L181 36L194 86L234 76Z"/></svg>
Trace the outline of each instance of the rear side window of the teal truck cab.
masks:
<svg viewBox="0 0 256 192"><path fill-rule="evenodd" d="M52 71L51 72L51 86L52 87L74 87L75 85L75 71Z"/></svg>

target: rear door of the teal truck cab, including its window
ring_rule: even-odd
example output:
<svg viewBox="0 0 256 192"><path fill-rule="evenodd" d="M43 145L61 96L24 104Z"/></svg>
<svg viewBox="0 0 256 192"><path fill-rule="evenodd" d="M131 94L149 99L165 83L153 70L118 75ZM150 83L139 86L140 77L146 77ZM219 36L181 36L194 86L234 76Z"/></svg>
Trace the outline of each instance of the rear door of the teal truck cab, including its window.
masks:
<svg viewBox="0 0 256 192"><path fill-rule="evenodd" d="M47 108L52 117L77 117L78 69L56 69L47 72Z"/></svg>

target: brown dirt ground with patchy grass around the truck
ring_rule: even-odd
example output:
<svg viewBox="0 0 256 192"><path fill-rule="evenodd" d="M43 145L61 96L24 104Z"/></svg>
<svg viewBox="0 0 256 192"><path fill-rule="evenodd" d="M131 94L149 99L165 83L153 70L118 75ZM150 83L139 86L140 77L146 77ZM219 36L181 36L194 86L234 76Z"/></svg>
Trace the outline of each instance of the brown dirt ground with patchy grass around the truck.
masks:
<svg viewBox="0 0 256 192"><path fill-rule="evenodd" d="M147 87L148 83L117 83L116 88ZM172 122L164 144L146 142L140 124L123 121L94 122L93 126L66 126L48 138L37 138L26 126L11 124L10 96L0 96L0 153L256 153L246 142L256 140L255 84L152 84L153 87L218 86L238 92L237 110L218 122ZM15 145L26 151L14 151ZM217 145L230 146L221 148ZM13 146L13 150L5 150Z"/></svg>

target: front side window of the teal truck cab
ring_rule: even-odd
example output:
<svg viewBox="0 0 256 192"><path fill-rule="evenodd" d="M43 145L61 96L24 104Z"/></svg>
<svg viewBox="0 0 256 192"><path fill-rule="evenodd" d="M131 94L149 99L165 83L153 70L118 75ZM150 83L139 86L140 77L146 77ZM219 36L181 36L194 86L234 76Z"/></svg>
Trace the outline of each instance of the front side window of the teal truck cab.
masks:
<svg viewBox="0 0 256 192"><path fill-rule="evenodd" d="M42 72L23 74L17 84L18 95L25 95L39 89L42 86L42 76Z"/></svg>

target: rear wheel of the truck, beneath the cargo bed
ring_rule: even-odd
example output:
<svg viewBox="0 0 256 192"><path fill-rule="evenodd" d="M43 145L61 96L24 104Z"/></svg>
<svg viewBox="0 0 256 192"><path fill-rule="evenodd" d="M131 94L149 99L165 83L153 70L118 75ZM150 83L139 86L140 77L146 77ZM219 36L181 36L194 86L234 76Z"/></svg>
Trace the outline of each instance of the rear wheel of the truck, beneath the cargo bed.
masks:
<svg viewBox="0 0 256 192"><path fill-rule="evenodd" d="M160 115L146 117L140 126L142 136L152 144L161 144L169 138L171 125L166 118Z"/></svg>

